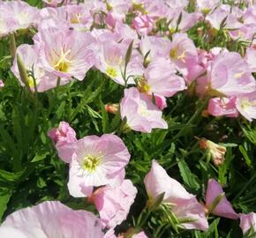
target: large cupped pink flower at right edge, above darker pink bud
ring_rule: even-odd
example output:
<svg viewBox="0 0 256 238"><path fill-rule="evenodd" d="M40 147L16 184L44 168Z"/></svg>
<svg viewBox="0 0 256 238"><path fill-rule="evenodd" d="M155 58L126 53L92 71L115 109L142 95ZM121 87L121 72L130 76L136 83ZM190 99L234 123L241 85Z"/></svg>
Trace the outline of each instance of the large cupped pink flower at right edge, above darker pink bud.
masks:
<svg viewBox="0 0 256 238"><path fill-rule="evenodd" d="M248 64L236 52L222 52L215 57L208 72L209 92L236 96L252 93L256 88ZM215 93L214 93L215 94Z"/></svg>

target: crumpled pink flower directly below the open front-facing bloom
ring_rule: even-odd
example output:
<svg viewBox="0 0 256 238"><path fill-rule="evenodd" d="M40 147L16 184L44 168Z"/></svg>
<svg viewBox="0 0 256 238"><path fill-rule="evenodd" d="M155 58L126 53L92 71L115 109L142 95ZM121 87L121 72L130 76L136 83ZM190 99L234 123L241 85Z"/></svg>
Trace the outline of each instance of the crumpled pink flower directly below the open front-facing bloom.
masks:
<svg viewBox="0 0 256 238"><path fill-rule="evenodd" d="M137 189L130 180L124 180L116 188L107 185L96 191L92 195L92 200L104 227L116 227L126 219L130 207L136 197Z"/></svg>

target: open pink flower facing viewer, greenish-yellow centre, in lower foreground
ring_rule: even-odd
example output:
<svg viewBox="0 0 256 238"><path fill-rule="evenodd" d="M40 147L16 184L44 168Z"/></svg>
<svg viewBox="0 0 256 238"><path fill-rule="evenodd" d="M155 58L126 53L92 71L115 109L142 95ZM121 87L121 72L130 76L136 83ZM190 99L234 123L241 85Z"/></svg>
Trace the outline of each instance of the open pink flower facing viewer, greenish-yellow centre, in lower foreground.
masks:
<svg viewBox="0 0 256 238"><path fill-rule="evenodd" d="M87 197L93 187L120 185L129 160L130 153L124 142L115 135L79 139L70 164L68 189L71 195Z"/></svg>

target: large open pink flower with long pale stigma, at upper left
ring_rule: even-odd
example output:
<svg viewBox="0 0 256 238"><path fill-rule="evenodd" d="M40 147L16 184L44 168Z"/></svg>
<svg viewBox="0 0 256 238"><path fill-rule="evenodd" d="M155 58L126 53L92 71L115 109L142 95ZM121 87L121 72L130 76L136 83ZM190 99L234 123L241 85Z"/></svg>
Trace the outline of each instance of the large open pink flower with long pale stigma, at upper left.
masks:
<svg viewBox="0 0 256 238"><path fill-rule="evenodd" d="M94 65L96 48L91 33L72 30L42 30L36 36L41 66L57 77L83 80Z"/></svg>

